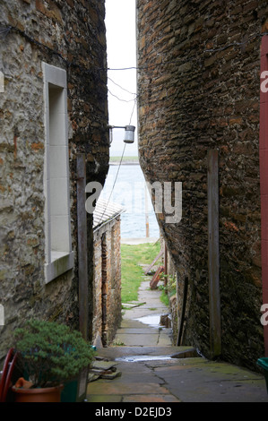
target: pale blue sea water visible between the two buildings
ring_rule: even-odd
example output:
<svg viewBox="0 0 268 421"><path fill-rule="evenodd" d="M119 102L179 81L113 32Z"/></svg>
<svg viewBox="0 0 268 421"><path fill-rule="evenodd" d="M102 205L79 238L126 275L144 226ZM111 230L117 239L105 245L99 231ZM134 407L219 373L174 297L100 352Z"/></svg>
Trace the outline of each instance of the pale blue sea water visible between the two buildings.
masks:
<svg viewBox="0 0 268 421"><path fill-rule="evenodd" d="M118 165L110 165L101 197L125 209L121 214L122 238L145 238L146 220L149 222L149 236L159 238L160 230L151 197L138 164L121 165L120 168Z"/></svg>

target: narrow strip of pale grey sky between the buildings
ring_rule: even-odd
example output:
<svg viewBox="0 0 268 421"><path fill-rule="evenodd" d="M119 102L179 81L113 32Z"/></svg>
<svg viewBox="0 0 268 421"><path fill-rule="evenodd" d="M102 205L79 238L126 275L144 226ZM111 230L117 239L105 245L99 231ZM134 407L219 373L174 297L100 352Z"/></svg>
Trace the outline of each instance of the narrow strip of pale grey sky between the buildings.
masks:
<svg viewBox="0 0 268 421"><path fill-rule="evenodd" d="M106 0L108 68L123 69L136 66L135 0ZM122 89L123 88L123 89ZM108 70L109 125L137 127L136 71ZM113 129L111 156L121 156L125 143L124 129ZM137 140L127 144L125 156L137 155Z"/></svg>

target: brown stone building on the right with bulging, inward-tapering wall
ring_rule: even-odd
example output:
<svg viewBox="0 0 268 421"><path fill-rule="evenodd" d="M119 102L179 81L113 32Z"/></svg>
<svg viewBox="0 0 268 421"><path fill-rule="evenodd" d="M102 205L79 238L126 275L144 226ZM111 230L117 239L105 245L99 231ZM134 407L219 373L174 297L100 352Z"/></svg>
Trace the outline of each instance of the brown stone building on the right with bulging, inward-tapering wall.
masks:
<svg viewBox="0 0 268 421"><path fill-rule="evenodd" d="M151 184L182 183L182 219L157 215L177 268L174 340L251 368L264 342L268 355L267 18L266 1L137 0L140 162Z"/></svg>

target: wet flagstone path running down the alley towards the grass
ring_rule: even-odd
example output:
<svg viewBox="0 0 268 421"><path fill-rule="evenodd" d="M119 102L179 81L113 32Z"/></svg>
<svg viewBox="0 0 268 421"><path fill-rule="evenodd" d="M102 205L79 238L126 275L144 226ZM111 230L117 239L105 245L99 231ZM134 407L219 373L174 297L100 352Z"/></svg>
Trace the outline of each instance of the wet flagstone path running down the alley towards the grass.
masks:
<svg viewBox="0 0 268 421"><path fill-rule="evenodd" d="M136 306L141 303L145 304ZM142 283L133 305L125 310L114 346L98 349L99 357L117 361L122 374L90 382L89 402L268 401L261 374L195 357L191 347L173 347L170 329L159 325L159 315L166 314L167 307L160 302L160 291L150 290L149 282Z"/></svg>

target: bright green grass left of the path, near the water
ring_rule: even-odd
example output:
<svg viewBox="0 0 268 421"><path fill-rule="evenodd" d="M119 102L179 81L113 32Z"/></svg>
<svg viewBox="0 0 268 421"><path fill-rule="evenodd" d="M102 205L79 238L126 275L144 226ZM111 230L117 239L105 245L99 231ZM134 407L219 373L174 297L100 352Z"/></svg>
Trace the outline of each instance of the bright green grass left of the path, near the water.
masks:
<svg viewBox="0 0 268 421"><path fill-rule="evenodd" d="M160 253L160 242L155 245L152 243L121 245L122 303L137 301L138 289L144 276L141 264L150 265L158 253Z"/></svg>

